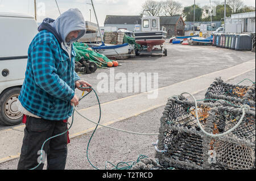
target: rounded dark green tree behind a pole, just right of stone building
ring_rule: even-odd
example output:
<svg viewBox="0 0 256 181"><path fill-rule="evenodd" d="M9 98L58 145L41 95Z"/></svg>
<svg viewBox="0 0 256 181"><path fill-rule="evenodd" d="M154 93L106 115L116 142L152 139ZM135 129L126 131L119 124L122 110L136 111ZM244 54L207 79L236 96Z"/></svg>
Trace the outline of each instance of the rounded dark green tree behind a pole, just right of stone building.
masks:
<svg viewBox="0 0 256 181"><path fill-rule="evenodd" d="M196 5L195 7L195 21L200 22L202 19L203 11L202 9ZM184 7L183 9L183 17L187 22L193 22L194 19L194 5Z"/></svg>

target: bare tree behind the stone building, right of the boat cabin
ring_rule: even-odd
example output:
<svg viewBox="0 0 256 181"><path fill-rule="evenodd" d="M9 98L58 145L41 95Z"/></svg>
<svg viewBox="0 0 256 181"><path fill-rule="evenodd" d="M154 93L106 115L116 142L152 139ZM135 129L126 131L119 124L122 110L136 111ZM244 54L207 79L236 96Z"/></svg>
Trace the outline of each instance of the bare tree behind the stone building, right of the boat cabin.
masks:
<svg viewBox="0 0 256 181"><path fill-rule="evenodd" d="M166 16L174 16L182 13L182 5L174 0L162 2L162 12Z"/></svg>

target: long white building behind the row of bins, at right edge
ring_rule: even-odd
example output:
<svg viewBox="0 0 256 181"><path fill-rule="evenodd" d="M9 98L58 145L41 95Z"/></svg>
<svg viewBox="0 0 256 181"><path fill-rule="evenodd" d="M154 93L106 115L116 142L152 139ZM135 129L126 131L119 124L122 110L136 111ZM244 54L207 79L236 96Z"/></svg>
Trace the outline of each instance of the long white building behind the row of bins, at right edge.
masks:
<svg viewBox="0 0 256 181"><path fill-rule="evenodd" d="M255 32L255 11L232 14L226 18L226 33Z"/></svg>

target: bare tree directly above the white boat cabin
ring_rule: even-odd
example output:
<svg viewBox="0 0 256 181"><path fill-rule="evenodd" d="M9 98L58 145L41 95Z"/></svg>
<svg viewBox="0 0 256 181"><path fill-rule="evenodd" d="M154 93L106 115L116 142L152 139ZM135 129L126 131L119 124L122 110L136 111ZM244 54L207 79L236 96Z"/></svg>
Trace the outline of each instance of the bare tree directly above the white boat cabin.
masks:
<svg viewBox="0 0 256 181"><path fill-rule="evenodd" d="M145 11L145 14L152 15L152 16L159 16L160 11L162 9L162 2L154 1L154 0L147 0L142 5L143 10Z"/></svg>

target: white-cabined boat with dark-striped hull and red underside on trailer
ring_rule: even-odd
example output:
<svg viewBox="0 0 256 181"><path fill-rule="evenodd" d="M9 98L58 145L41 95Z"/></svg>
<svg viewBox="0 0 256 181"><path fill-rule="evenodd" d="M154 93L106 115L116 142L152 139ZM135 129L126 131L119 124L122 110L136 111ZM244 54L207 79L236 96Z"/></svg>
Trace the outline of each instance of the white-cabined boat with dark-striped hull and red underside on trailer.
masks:
<svg viewBox="0 0 256 181"><path fill-rule="evenodd" d="M142 18L142 31L135 31L134 35L135 42L141 45L141 49L135 52L136 55L141 53L161 53L167 56L167 49L163 48L167 32L164 27L160 30L159 17L146 16Z"/></svg>

